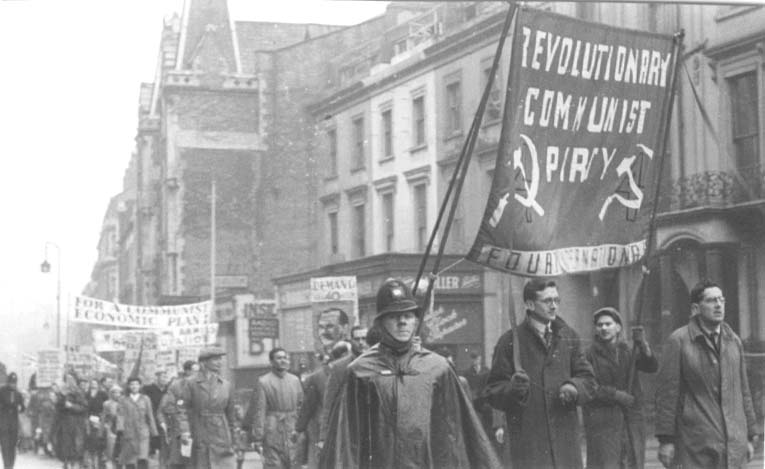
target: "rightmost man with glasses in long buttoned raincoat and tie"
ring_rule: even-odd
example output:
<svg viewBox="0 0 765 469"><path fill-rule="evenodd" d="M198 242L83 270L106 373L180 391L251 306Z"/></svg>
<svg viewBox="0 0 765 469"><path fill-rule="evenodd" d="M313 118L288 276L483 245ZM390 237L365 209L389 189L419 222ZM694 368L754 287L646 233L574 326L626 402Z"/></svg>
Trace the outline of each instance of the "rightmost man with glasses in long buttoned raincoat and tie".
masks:
<svg viewBox="0 0 765 469"><path fill-rule="evenodd" d="M691 320L669 336L656 389L664 467L738 468L754 453L757 425L741 339L725 322L719 285L691 290Z"/></svg>

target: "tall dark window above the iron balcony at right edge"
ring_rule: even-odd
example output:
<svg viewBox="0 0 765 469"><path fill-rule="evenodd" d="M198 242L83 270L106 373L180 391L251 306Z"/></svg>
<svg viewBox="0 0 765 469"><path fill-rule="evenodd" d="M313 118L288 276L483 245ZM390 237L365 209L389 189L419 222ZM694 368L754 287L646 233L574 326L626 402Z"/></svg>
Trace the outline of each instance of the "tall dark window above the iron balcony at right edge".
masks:
<svg viewBox="0 0 765 469"><path fill-rule="evenodd" d="M727 81L733 114L731 121L736 165L742 174L752 174L759 169L757 166L760 161L757 73L742 73Z"/></svg>

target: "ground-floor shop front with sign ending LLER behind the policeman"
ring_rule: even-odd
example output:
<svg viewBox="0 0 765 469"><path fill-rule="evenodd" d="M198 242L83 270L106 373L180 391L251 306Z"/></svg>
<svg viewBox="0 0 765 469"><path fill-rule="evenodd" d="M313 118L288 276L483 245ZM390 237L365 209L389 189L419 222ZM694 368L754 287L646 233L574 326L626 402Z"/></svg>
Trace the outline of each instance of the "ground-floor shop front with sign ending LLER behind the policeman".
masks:
<svg viewBox="0 0 765 469"><path fill-rule="evenodd" d="M471 354L485 356L484 269L460 256L445 256L441 266L452 266L436 280L433 308L424 318L421 337L431 350L449 349L457 369L470 365ZM420 255L381 254L333 264L314 271L274 279L279 314L284 324L280 343L293 354L294 371L315 366L315 318L310 304L312 277L350 276L357 279L358 311L352 321L369 327L376 314L376 294L388 278L401 278L409 285L417 275ZM429 271L430 269L427 269ZM424 292L422 292L424 293ZM489 347L493 344L489 344ZM302 365L301 365L302 363Z"/></svg>

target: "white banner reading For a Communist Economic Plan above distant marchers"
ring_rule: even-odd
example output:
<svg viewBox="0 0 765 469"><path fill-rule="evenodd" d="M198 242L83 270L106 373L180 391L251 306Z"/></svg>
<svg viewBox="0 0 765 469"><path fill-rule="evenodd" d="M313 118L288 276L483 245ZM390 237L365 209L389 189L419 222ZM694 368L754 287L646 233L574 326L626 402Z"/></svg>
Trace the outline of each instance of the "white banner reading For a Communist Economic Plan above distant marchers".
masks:
<svg viewBox="0 0 765 469"><path fill-rule="evenodd" d="M76 296L70 320L107 326L169 329L207 324L211 312L209 301L176 306L138 306Z"/></svg>

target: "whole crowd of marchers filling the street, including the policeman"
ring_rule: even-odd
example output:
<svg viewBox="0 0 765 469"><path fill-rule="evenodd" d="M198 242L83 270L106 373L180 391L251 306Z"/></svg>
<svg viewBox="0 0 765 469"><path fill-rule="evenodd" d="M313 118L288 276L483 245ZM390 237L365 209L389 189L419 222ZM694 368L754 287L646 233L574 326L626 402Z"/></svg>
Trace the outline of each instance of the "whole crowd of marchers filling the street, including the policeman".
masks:
<svg viewBox="0 0 765 469"><path fill-rule="evenodd" d="M494 348L491 368L473 356L458 373L450 353L418 340L422 309L407 284L377 293L369 329L348 315L319 315L323 363L290 373L282 348L269 353L246 412L221 377L219 347L203 349L181 376L123 388L77 382L31 403L65 468L233 469L256 451L271 468L581 468L581 408L588 468L642 468L646 425L640 385L657 373L655 437L667 468L740 468L761 434L740 338L725 323L715 283L690 293L692 316L657 360L642 333L624 338L612 307L592 314L589 346L568 326L556 283L531 279L525 318ZM350 337L348 337L350 335ZM45 416L41 409L52 415ZM13 467L24 398L14 374L0 388L0 443ZM42 423L43 421L47 423Z"/></svg>

